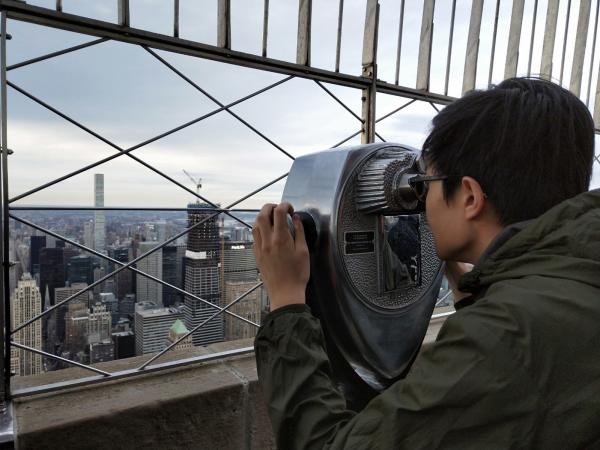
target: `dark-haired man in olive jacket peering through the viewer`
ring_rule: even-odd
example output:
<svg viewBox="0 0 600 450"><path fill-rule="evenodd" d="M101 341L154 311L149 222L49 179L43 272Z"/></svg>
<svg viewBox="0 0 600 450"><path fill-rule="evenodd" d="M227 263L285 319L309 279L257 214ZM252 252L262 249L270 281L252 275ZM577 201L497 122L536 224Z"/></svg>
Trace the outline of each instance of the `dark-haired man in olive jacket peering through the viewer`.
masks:
<svg viewBox="0 0 600 450"><path fill-rule="evenodd" d="M335 390L304 304L301 223L294 240L291 205L257 217L272 312L256 358L278 446L600 448L600 191L586 192L588 110L550 82L506 80L446 107L423 152L428 177L414 188L440 258L474 264L458 283L471 295L407 377L360 413Z"/></svg>

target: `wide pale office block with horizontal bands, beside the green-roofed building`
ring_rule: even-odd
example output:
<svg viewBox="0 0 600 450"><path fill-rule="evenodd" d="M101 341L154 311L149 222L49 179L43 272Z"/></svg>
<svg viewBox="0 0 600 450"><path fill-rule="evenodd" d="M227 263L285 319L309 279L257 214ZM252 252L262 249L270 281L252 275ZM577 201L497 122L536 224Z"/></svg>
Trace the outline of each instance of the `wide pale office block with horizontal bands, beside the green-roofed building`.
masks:
<svg viewBox="0 0 600 450"><path fill-rule="evenodd" d="M177 308L149 308L138 305L135 310L135 353L144 355L166 347L169 329L183 314Z"/></svg>

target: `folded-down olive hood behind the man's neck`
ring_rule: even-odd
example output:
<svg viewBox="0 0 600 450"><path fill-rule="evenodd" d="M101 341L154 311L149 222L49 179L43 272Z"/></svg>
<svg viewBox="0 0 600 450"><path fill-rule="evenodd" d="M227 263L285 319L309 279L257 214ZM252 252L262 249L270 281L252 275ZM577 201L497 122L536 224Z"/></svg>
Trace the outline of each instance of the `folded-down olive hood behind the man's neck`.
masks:
<svg viewBox="0 0 600 450"><path fill-rule="evenodd" d="M475 292L528 275L600 287L600 189L565 200L534 219L463 275L458 287Z"/></svg>

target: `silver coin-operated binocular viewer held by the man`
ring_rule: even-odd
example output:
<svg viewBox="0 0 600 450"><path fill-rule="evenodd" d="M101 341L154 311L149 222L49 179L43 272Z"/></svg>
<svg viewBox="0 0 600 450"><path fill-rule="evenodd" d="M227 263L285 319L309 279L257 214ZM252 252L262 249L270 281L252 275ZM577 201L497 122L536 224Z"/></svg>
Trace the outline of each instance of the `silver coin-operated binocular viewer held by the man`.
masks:
<svg viewBox="0 0 600 450"><path fill-rule="evenodd" d="M326 150L297 158L284 188L310 250L307 304L350 407L407 372L439 293L442 262L411 186L420 161L392 143Z"/></svg>

